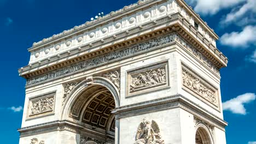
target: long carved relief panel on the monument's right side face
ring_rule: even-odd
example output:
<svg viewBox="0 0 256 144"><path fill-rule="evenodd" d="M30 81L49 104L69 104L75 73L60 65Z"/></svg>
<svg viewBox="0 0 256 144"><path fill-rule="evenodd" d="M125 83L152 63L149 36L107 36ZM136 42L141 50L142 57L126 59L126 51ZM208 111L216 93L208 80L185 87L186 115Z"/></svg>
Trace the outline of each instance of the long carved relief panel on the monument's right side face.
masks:
<svg viewBox="0 0 256 144"><path fill-rule="evenodd" d="M190 89L193 89L196 93L200 94L203 98L206 98L213 104L217 104L216 92L210 87L203 84L200 79L190 74L187 70L182 71L183 84Z"/></svg>

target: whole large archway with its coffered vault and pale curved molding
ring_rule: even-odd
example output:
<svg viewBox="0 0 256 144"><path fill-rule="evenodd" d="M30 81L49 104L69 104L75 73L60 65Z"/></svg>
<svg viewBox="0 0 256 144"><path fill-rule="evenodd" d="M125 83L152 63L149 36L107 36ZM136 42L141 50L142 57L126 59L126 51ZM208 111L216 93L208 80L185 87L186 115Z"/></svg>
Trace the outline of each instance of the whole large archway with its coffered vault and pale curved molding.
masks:
<svg viewBox="0 0 256 144"><path fill-rule="evenodd" d="M107 79L96 77L80 82L68 95L62 119L83 127L80 143L114 143L116 122L111 111L119 106L116 89Z"/></svg>

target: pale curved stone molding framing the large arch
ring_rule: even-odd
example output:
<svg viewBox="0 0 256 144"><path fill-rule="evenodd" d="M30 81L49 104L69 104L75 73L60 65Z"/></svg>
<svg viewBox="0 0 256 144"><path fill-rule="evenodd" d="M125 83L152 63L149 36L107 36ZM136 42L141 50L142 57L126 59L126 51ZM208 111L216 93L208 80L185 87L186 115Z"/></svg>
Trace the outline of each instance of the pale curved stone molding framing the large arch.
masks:
<svg viewBox="0 0 256 144"><path fill-rule="evenodd" d="M77 86L74 87L74 89L67 95L67 100L63 104L62 107L62 113L61 113L61 119L65 120L68 119L69 117L69 112L71 110L71 106L74 104L75 99L82 94L83 92L86 91L86 89L92 87L92 86L103 86L112 93L114 100L115 100L115 107L120 106L120 96L119 96L119 90L118 88L114 85L113 82L110 80L104 78L104 77L92 77L92 81L84 80L80 83L78 83Z"/></svg>

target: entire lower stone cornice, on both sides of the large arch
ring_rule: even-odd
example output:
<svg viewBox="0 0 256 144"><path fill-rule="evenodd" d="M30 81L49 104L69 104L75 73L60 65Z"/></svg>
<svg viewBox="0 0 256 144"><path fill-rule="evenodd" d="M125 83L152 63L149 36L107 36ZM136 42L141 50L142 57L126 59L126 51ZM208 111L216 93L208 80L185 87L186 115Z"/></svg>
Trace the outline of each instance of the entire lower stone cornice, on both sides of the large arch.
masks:
<svg viewBox="0 0 256 144"><path fill-rule="evenodd" d="M160 106L160 109L154 109L155 106ZM228 123L226 123L223 119L219 118L216 115L213 115L211 112L207 111L206 109L203 109L197 104L194 104L192 101L188 100L181 94L171 95L170 97L145 101L137 104L121 106L113 110L112 113L114 113L116 115L116 118L119 119L130 115L140 115L141 113L143 113L143 111L148 113L149 111L162 111L166 109L173 109L175 107L189 111L195 117L199 117L220 129L224 130L226 125L228 125ZM85 130L84 125L74 123L72 121L53 121L20 128L18 129L18 131L20 132L21 136L27 136L32 135L34 133L45 133L47 131L71 130L70 128L73 128L75 130ZM79 133L79 131L77 132ZM94 131L94 133L98 132Z"/></svg>

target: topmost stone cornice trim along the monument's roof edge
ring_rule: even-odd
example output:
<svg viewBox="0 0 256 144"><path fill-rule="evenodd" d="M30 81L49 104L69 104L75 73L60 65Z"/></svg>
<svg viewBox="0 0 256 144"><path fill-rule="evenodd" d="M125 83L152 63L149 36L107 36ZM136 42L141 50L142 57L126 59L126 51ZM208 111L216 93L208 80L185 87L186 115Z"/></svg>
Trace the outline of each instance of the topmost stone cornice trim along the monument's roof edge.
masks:
<svg viewBox="0 0 256 144"><path fill-rule="evenodd" d="M80 33L84 33L86 31L89 31L90 29L94 29L97 27L100 27L102 25L105 25L109 22L113 22L114 20L122 19L125 16L132 15L136 13L137 11L141 11L150 7L153 7L154 5L161 4L164 2L167 2L168 0L139 0L135 4L131 4L128 6L125 6L123 9L119 9L116 11L112 11L110 14L107 14L103 17L99 17L97 20L93 21L87 21L84 24L80 26L75 26L71 29L65 30L62 33L54 34L52 37L45 38L41 41L38 41L37 43L33 43L33 46L28 49L28 51L36 51L38 49L41 49L42 47L55 44L58 41L65 40L68 38L71 38L72 35L78 35ZM170 1L170 0L169 0ZM215 40L218 39L218 35L214 33L214 31L207 25L206 22L204 22L199 15L197 15L191 7L185 3L183 0L176 0L179 5L181 5L182 8L189 11L190 15L192 15L200 24L207 29L208 32L214 37Z"/></svg>

